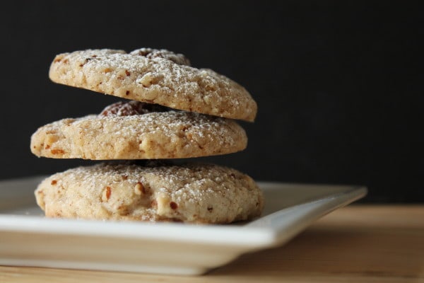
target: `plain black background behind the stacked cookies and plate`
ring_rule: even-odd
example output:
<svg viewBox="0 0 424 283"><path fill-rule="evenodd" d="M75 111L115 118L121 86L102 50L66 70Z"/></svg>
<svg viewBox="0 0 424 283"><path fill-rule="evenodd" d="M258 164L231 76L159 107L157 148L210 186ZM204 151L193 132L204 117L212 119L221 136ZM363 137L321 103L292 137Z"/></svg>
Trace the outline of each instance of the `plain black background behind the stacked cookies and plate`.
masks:
<svg viewBox="0 0 424 283"><path fill-rule="evenodd" d="M391 1L11 1L0 11L0 178L93 161L36 158L30 135L117 100L48 79L55 54L182 52L259 105L245 151L202 160L257 180L367 185L423 202L423 8Z"/></svg>

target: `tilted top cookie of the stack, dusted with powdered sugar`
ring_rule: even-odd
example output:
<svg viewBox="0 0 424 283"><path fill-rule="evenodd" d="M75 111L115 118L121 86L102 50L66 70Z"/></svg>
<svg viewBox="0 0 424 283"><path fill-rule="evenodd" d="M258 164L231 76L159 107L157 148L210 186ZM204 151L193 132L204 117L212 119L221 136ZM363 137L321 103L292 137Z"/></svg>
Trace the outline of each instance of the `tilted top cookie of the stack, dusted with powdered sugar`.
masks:
<svg viewBox="0 0 424 283"><path fill-rule="evenodd" d="M211 69L188 65L184 55L167 50L83 50L57 55L49 77L112 96L254 121L257 104L245 88Z"/></svg>

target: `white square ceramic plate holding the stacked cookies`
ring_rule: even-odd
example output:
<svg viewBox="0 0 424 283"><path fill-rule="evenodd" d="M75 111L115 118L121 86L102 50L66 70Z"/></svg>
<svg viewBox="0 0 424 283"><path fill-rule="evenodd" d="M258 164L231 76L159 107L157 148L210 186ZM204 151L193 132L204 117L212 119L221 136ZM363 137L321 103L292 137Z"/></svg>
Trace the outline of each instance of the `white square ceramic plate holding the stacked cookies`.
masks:
<svg viewBox="0 0 424 283"><path fill-rule="evenodd" d="M47 219L42 178L0 181L0 265L200 275L243 253L281 246L313 221L358 200L365 187L259 183L261 218L231 225Z"/></svg>

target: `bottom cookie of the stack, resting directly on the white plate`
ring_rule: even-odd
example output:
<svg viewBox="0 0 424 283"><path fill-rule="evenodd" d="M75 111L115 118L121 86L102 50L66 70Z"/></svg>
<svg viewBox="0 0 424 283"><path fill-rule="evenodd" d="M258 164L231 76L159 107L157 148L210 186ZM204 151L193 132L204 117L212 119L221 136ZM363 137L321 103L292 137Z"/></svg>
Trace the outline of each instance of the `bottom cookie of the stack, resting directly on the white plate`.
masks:
<svg viewBox="0 0 424 283"><path fill-rule="evenodd" d="M38 185L48 217L226 224L261 214L264 198L248 175L211 164L98 164Z"/></svg>

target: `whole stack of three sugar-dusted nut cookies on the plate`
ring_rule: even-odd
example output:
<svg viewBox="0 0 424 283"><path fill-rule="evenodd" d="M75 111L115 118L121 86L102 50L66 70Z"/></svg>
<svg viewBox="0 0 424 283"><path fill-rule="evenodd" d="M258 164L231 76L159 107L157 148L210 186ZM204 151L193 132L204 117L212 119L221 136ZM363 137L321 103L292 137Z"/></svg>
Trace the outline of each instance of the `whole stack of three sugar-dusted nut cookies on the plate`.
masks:
<svg viewBox="0 0 424 283"><path fill-rule="evenodd" d="M33 134L36 156L106 161L43 180L35 197L46 216L223 224L261 214L263 196L249 176L169 162L246 148L235 120L252 122L257 105L239 84L190 67L182 54L150 48L59 54L49 77L125 100Z"/></svg>

